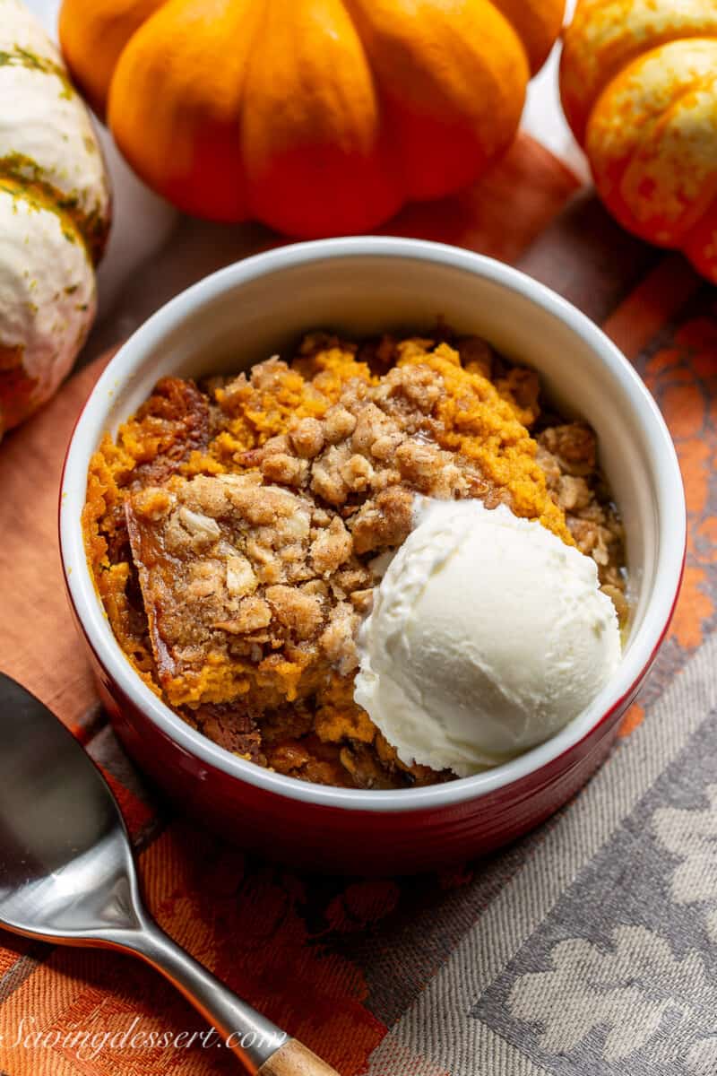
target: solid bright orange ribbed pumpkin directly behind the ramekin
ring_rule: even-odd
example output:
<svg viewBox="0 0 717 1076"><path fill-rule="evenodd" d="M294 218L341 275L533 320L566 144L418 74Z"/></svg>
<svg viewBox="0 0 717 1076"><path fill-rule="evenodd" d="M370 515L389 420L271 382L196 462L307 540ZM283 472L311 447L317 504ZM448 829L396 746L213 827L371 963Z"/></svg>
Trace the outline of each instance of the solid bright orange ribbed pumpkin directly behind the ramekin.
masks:
<svg viewBox="0 0 717 1076"><path fill-rule="evenodd" d="M181 209L362 231L511 143L564 0L64 0L60 41Z"/></svg>

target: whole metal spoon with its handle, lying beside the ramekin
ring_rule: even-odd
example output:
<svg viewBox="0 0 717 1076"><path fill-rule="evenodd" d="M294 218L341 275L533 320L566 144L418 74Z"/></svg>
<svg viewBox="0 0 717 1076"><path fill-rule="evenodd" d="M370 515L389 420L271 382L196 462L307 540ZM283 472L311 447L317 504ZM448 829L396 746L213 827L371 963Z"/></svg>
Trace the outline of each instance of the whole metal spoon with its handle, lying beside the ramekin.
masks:
<svg viewBox="0 0 717 1076"><path fill-rule="evenodd" d="M125 949L161 972L249 1073L338 1076L231 993L145 910L117 802L77 740L0 672L0 925Z"/></svg>

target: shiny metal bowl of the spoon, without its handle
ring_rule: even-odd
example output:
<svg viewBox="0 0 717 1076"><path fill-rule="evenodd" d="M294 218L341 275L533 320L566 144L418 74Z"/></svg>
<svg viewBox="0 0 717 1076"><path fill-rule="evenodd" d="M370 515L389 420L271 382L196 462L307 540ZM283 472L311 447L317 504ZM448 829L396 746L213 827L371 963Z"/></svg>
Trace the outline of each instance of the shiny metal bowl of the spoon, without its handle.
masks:
<svg viewBox="0 0 717 1076"><path fill-rule="evenodd" d="M6 677L2 699L2 922L77 945L141 929L129 838L104 778L54 714Z"/></svg>

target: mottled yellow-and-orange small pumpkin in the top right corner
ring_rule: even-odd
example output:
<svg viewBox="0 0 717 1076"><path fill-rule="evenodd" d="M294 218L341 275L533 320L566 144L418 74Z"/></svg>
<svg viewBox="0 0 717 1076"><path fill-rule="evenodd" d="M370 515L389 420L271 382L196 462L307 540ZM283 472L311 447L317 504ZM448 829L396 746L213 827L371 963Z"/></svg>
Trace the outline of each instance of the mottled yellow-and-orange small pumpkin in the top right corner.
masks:
<svg viewBox="0 0 717 1076"><path fill-rule="evenodd" d="M717 281L715 0L578 0L560 84L611 213Z"/></svg>

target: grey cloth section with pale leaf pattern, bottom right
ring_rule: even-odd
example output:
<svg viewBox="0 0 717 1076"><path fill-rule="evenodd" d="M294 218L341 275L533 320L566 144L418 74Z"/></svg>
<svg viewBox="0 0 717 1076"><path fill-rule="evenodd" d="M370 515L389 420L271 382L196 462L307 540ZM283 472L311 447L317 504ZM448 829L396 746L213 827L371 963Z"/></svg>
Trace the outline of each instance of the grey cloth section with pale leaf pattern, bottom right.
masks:
<svg viewBox="0 0 717 1076"><path fill-rule="evenodd" d="M479 908L372 1076L717 1074L717 636ZM498 874L502 884L492 884ZM463 907L461 907L463 904Z"/></svg>

